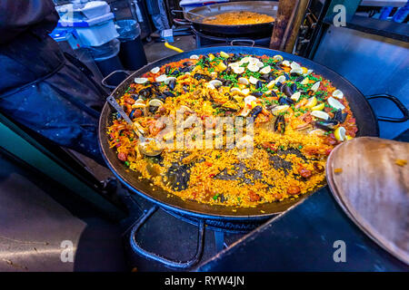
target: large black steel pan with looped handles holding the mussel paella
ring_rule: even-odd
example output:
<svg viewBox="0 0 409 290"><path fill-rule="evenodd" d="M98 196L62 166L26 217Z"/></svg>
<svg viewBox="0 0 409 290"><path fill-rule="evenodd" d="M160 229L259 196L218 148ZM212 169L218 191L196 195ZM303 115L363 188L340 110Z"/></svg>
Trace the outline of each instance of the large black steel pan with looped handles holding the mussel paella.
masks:
<svg viewBox="0 0 409 290"><path fill-rule="evenodd" d="M324 67L321 64L314 63L310 60L304 59L299 56L295 56L290 53L282 53L274 50L269 50L265 48L256 48L248 46L219 46L219 47L209 47L197 49L191 52L179 53L170 57L166 57L162 60L156 61L155 63L150 63L135 73L131 73L124 82L119 84L115 91L112 93L116 98L119 98L125 93L128 86L134 81L134 78L141 76L143 73L149 72L155 66L162 66L166 63L172 63L179 61L184 58L189 58L192 54L207 54L207 53L218 53L224 51L225 53L248 53L253 55L269 55L274 56L275 54L283 55L284 59L292 60L297 63L301 63L303 66L313 69L315 73L321 74L324 78L332 81L334 86L344 92L345 98L348 100L351 110L354 113L354 118L356 119L356 124L358 126L358 136L378 136L379 128L374 116L374 111L372 110L370 104L366 101L364 95L359 92L351 82L345 80L341 75L334 73L330 69ZM372 98L379 98L380 95L373 96ZM393 96L382 96L395 102L398 108L403 111L404 117L400 119L387 119L379 117L379 121L406 121L408 120L408 111L396 98ZM368 98L369 99L369 98ZM115 150L110 149L108 145L108 136L106 134L107 127L111 124L112 114L115 111L111 108L108 103L105 103L105 107L101 113L99 120L99 143L103 153L103 157L106 161L107 166L114 172L115 176L120 179L125 186L134 191L136 194L152 201L155 204L154 208L149 209L143 217L141 217L135 225L132 227L130 233L130 245L135 253L145 256L147 258L153 259L160 263L165 264L165 266L187 268L195 265L203 253L204 249L204 234L205 226L206 228L213 228L224 231L234 231L234 232L247 232L258 227L266 219L272 218L275 215L284 212L288 208L293 207L295 204L299 203L304 198L308 197L313 192L303 195L300 198L291 200L287 199L281 202L273 202L259 205L255 208L227 208L223 206L210 206L207 204L197 203L192 200L182 200L175 195L170 195L167 197L167 192L163 189L153 188L150 186L149 180L138 179L139 174L135 171L127 170L124 164L117 159ZM323 187L323 186L321 186ZM316 191L318 189L315 189ZM180 262L175 261L164 256L159 256L155 253L150 253L144 248L140 247L136 242L136 233L140 227L142 227L145 221L155 213L157 208L163 208L172 215L182 218L188 222L195 223L198 225L198 243L195 256L188 261Z"/></svg>

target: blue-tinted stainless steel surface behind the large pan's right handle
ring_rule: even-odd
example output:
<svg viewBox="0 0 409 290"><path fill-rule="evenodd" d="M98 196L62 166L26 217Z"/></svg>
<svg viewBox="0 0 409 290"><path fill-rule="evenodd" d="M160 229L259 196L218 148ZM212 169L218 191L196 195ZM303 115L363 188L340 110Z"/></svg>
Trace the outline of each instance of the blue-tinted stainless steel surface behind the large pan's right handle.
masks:
<svg viewBox="0 0 409 290"><path fill-rule="evenodd" d="M409 43L331 26L317 48L314 61L343 75L364 95L388 93L409 107ZM400 117L392 102L371 101L371 104L378 115ZM408 128L408 121L379 125L381 137L392 139Z"/></svg>

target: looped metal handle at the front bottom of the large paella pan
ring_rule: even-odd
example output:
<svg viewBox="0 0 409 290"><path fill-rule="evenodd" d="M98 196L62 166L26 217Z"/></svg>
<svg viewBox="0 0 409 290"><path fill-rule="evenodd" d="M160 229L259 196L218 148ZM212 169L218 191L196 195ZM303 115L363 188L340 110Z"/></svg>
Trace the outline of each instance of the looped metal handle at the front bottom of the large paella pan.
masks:
<svg viewBox="0 0 409 290"><path fill-rule="evenodd" d="M147 211L144 212L143 216L136 221L135 225L131 229L130 236L131 248L135 251L136 254L144 256L156 262L162 263L165 266L180 269L186 269L191 266L195 266L195 264L197 264L200 261L205 246L205 220L203 219L199 221L198 239L195 256L193 256L191 259L187 261L177 261L170 258L166 258L165 256L160 256L158 254L146 251L144 248L140 247L139 244L136 242L136 234L138 230L142 226L144 226L146 220L150 218L157 209L158 209L157 206L149 208Z"/></svg>

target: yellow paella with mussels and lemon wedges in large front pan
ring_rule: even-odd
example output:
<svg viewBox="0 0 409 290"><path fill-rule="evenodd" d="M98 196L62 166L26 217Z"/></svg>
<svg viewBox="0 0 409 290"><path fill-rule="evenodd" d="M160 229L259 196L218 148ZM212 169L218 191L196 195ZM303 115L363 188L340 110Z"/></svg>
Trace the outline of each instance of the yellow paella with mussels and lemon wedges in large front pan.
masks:
<svg viewBox="0 0 409 290"><path fill-rule="evenodd" d="M281 55L191 55L138 76L117 102L134 130L164 145L145 156L115 113L107 134L125 167L211 205L254 207L311 192L325 182L331 150L358 131L344 92Z"/></svg>

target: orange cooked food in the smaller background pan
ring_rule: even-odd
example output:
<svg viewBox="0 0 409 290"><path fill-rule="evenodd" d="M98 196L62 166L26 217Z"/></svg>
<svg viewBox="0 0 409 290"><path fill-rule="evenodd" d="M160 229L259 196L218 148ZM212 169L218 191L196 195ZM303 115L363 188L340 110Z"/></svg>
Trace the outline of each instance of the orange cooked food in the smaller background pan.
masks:
<svg viewBox="0 0 409 290"><path fill-rule="evenodd" d="M205 17L203 20L204 24L215 25L265 24L269 22L274 22L274 17L250 11L226 12Z"/></svg>

